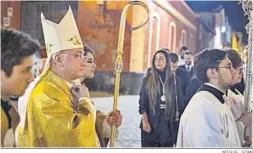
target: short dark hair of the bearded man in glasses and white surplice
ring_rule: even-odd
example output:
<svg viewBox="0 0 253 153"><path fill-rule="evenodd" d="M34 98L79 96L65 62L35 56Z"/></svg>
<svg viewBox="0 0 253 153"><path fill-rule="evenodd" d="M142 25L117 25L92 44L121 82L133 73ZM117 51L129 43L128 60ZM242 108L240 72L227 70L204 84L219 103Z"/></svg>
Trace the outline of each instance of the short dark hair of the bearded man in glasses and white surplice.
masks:
<svg viewBox="0 0 253 153"><path fill-rule="evenodd" d="M222 60L227 57L227 52L219 49L205 49L195 56L194 71L196 77L202 82L209 82L207 70L217 68Z"/></svg>

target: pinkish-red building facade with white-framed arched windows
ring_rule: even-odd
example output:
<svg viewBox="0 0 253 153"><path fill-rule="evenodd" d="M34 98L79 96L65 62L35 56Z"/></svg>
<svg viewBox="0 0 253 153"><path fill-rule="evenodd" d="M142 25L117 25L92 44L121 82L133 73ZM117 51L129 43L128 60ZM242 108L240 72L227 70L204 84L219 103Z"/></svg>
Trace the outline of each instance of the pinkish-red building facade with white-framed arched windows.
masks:
<svg viewBox="0 0 253 153"><path fill-rule="evenodd" d="M145 30L145 60L144 60L144 69L147 69L149 66L151 66L151 60L154 55L154 53L161 49L161 48L169 48L171 52L178 53L180 47L181 47L181 32L184 30L186 32L186 46L190 48L190 50L195 53L196 48L196 36L197 36L197 30L198 30L198 23L196 22L196 16L189 10L189 8L186 8L184 5L184 1L168 1L167 5L171 5L174 7L179 13L181 13L182 16L184 16L188 21L190 21L191 24L193 24L196 28L196 30L193 30L188 25L184 24L179 19L175 18L173 14L170 14L165 9L158 6L154 0L149 0L147 2L147 5L150 8L150 21L149 26L147 26L147 29ZM155 17L153 17L152 14L155 14ZM153 19L153 23L151 20ZM175 23L176 30L175 32L169 31L169 27L171 23ZM159 24L159 25L158 25ZM152 25L152 26L151 26ZM159 28L157 30L156 28ZM150 30L152 28L152 30ZM152 35L150 35L152 33ZM174 35L176 35L176 39L174 39ZM157 36L159 38L157 38ZM191 37L192 36L192 37ZM151 38L150 38L151 37ZM170 44L169 44L169 37ZM158 47L156 46L156 40L159 39ZM151 40L151 44L149 45L149 41ZM174 46L175 41L175 46ZM150 52L151 47L151 54ZM151 57L149 57L151 56ZM150 62L150 65L148 64Z"/></svg>

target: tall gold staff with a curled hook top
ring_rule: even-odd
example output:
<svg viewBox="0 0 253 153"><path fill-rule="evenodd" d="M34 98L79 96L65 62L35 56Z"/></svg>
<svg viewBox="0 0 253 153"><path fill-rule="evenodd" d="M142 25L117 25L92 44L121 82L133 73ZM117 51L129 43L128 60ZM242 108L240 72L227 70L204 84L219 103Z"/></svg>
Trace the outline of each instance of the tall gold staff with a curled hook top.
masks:
<svg viewBox="0 0 253 153"><path fill-rule="evenodd" d="M120 73L123 70L122 54L123 54L123 43L124 43L126 15L127 15L127 10L131 5L140 5L140 6L142 6L147 11L147 14L148 14L145 22L143 22L139 26L133 27L131 30L136 30L136 29L141 28L142 26L144 26L148 22L148 19L149 19L148 6L143 2L131 1L123 8L123 12L121 14L121 19L120 19L118 49L117 49L117 57L116 57L116 62L115 62L116 79L115 79L115 88L114 88L113 110L116 110L117 105L118 105ZM115 129L116 129L115 125L112 126L111 137L110 137L110 147L114 146Z"/></svg>

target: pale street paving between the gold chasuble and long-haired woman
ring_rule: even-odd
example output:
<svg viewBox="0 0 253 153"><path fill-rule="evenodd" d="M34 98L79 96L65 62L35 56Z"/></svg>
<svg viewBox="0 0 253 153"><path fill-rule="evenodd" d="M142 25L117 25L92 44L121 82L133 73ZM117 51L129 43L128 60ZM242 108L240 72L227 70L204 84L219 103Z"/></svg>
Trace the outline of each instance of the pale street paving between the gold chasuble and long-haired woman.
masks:
<svg viewBox="0 0 253 153"><path fill-rule="evenodd" d="M139 96L120 96L118 109L123 115L123 122L119 128L119 137L116 139L116 147L140 148L140 119L138 113ZM98 110L108 113L112 110L113 97L93 98Z"/></svg>

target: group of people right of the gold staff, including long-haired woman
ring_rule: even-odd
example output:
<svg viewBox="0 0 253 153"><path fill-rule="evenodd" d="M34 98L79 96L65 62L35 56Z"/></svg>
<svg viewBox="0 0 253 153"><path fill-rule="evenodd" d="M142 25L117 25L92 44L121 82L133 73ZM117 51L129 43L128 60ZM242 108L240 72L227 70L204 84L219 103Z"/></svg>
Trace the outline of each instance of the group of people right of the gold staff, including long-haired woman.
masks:
<svg viewBox="0 0 253 153"><path fill-rule="evenodd" d="M157 51L140 91L142 147L249 147L252 111L245 112L244 87L243 62L233 49L195 57L186 46L180 56Z"/></svg>

